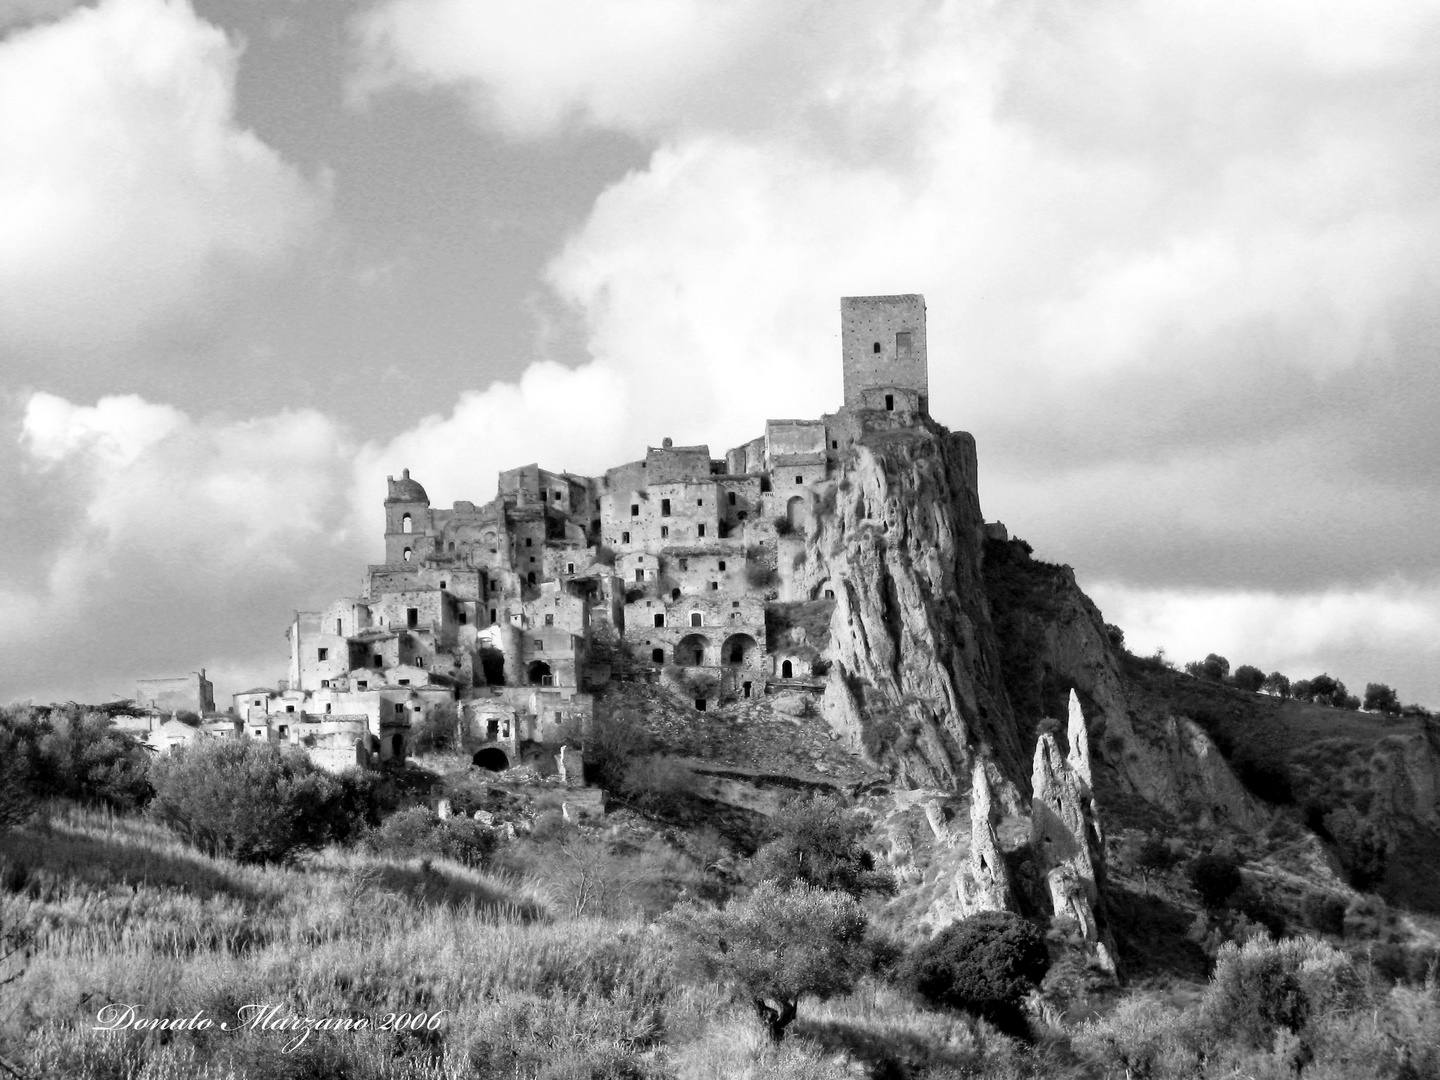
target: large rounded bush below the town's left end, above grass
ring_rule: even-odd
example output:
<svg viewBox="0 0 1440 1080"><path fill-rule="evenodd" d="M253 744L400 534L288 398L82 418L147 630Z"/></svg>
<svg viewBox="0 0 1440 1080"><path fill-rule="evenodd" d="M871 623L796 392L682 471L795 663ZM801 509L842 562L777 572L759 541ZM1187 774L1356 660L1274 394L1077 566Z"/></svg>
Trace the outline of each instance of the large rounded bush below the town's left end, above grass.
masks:
<svg viewBox="0 0 1440 1080"><path fill-rule="evenodd" d="M157 819L202 851L284 863L328 842L343 819L340 782L301 750L252 739L204 739L151 768Z"/></svg>

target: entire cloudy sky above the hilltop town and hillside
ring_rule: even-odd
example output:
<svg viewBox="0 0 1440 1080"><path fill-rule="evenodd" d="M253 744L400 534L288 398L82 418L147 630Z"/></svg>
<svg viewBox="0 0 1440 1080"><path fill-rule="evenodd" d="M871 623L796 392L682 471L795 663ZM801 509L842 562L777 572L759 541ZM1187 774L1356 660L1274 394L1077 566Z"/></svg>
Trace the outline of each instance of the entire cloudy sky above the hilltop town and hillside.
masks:
<svg viewBox="0 0 1440 1080"><path fill-rule="evenodd" d="M714 454L922 292L1132 651L1440 707L1440 7L0 0L0 701L284 675L384 478Z"/></svg>

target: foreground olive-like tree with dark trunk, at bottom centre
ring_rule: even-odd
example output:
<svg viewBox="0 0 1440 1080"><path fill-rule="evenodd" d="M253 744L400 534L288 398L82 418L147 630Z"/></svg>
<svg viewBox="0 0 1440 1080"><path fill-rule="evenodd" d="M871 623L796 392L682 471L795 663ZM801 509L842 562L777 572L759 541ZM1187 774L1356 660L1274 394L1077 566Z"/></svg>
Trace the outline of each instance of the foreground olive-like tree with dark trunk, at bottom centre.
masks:
<svg viewBox="0 0 1440 1080"><path fill-rule="evenodd" d="M720 982L755 1005L776 1043L799 999L848 994L870 966L865 916L844 893L765 881L723 909L687 901L662 923L683 975Z"/></svg>

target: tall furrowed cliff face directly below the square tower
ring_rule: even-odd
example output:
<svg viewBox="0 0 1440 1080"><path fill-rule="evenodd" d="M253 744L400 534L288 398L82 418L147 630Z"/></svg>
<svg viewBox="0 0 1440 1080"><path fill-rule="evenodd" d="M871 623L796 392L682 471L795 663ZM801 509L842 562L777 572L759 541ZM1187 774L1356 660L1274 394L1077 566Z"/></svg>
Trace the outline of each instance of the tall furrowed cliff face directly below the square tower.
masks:
<svg viewBox="0 0 1440 1080"><path fill-rule="evenodd" d="M835 595L825 719L912 786L962 791L985 749L995 796L1018 806L1025 755L981 577L973 439L865 432L815 501L791 589Z"/></svg>

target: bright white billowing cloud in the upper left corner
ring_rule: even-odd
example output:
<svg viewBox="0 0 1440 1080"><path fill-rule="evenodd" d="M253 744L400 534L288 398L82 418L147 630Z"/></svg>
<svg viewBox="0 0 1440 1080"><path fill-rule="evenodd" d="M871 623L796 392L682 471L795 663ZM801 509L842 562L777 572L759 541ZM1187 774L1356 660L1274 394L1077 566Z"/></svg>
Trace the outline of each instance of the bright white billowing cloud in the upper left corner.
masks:
<svg viewBox="0 0 1440 1080"><path fill-rule="evenodd" d="M0 341L122 340L324 212L324 184L236 124L238 56L186 0L0 39Z"/></svg>

